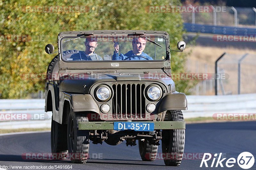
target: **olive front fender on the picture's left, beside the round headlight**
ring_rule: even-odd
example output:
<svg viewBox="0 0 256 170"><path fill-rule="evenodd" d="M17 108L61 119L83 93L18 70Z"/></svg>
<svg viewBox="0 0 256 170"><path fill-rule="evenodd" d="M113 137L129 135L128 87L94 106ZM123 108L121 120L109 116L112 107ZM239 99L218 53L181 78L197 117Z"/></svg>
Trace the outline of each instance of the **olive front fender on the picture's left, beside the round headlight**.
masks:
<svg viewBox="0 0 256 170"><path fill-rule="evenodd" d="M64 100L68 100L73 112L92 111L100 113L100 109L90 94L65 93Z"/></svg>

